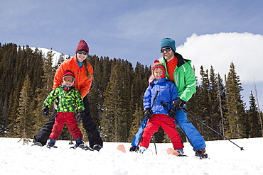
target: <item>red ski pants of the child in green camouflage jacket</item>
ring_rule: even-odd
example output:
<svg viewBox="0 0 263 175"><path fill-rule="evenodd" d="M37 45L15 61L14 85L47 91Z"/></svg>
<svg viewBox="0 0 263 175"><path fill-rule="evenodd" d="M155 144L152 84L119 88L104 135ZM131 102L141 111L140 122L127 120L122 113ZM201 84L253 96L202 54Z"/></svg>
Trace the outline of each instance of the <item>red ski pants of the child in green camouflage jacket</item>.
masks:
<svg viewBox="0 0 263 175"><path fill-rule="evenodd" d="M68 125L68 130L70 130L70 134L73 135L74 140L76 140L77 137L83 137L82 133L80 132L80 128L77 126L75 113L58 112L58 115L55 117L55 124L53 125L50 138L58 140L58 136L60 136L65 123Z"/></svg>

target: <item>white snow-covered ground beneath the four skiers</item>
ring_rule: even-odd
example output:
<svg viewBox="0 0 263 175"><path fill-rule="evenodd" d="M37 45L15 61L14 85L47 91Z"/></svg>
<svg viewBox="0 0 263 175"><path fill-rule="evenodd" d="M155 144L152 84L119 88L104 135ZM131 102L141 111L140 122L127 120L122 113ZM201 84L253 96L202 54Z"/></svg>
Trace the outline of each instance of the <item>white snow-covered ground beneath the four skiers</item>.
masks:
<svg viewBox="0 0 263 175"><path fill-rule="evenodd" d="M184 143L189 157L161 154L172 147L170 143L156 143L149 149L153 154L117 151L130 143L104 142L100 152L69 149L69 141L58 140L58 148L23 145L18 138L0 137L0 174L263 174L263 137L206 142L209 159L194 157L192 147Z"/></svg>

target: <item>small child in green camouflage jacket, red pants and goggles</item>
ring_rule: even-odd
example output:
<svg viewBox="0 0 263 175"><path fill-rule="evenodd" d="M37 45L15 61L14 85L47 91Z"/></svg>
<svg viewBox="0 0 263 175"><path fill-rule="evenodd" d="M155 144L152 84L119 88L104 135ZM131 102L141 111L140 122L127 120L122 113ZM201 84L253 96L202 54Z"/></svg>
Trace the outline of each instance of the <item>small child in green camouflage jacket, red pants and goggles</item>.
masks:
<svg viewBox="0 0 263 175"><path fill-rule="evenodd" d="M75 113L78 112L77 118L82 118L84 115L84 104L80 92L73 86L75 81L75 75L73 72L65 71L63 73L63 84L48 94L48 97L44 101L43 115L48 115L48 109L53 101L58 99L57 116L55 117L55 124L53 125L52 132L50 134L50 142L47 147L55 147L55 141L58 140L60 133L64 128L64 124L68 125L70 134L73 135L76 148L82 144L82 132L77 126L77 119Z"/></svg>

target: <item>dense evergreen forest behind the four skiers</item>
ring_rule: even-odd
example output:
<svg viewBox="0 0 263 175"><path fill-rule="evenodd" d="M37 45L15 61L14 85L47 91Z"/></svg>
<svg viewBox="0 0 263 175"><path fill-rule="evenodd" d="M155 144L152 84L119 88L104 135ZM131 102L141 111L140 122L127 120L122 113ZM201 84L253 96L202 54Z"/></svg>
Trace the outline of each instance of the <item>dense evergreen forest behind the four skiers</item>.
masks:
<svg viewBox="0 0 263 175"><path fill-rule="evenodd" d="M48 120L43 118L43 101L52 91L53 77L68 57L61 54L55 64L52 49L46 55L14 43L0 43L0 136L32 138ZM92 88L88 95L92 118L106 142L131 142L144 119L143 97L151 75L151 66L122 59L89 55L94 67ZM195 72L196 74L196 72ZM229 139L262 137L262 111L251 91L249 109L241 96L242 84L230 62L230 70L222 78L200 67L197 92L186 103L190 114ZM51 113L51 111L50 111ZM222 140L217 133L188 115L205 140ZM80 124L82 133L85 130ZM186 138L183 133L184 141ZM156 142L168 142L159 129ZM72 137L64 128L60 140ZM87 140L87 137L85 137Z"/></svg>

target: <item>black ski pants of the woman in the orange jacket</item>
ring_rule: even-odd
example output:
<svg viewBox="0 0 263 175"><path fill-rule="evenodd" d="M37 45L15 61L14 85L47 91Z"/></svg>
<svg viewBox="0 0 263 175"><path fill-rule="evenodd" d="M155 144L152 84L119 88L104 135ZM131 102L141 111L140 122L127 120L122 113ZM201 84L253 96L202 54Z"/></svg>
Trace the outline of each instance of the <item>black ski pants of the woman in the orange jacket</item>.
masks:
<svg viewBox="0 0 263 175"><path fill-rule="evenodd" d="M94 145L100 145L103 147L102 137L100 137L100 132L97 130L97 127L92 120L92 115L90 113L90 103L85 96L83 98L83 103L85 106L85 115L82 118L83 128L87 132L87 137L89 139L90 147ZM50 115L50 119L43 125L43 127L34 135L33 142L41 142L42 145L45 145L48 141L49 135L55 123L55 116L57 111L53 109L53 113Z"/></svg>

